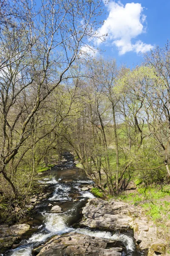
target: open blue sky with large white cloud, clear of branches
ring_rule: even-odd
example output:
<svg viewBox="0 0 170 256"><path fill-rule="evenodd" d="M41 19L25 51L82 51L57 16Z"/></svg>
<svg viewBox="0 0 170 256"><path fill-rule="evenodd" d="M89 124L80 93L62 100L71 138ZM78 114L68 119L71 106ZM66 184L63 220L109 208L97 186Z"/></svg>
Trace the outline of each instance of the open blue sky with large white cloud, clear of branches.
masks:
<svg viewBox="0 0 170 256"><path fill-rule="evenodd" d="M136 66L144 52L164 47L170 39L170 0L110 0L105 12L98 34L108 36L94 47L116 58L118 65Z"/></svg>

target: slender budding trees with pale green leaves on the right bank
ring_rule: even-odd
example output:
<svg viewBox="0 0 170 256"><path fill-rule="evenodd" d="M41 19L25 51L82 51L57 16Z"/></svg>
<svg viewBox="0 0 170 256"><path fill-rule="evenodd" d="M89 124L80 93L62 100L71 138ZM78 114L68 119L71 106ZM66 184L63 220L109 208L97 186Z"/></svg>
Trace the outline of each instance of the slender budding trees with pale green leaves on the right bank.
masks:
<svg viewBox="0 0 170 256"><path fill-rule="evenodd" d="M152 61L157 51L150 53ZM147 186L169 176L169 53L168 48L161 51L155 67L150 55L150 61L133 70L118 68L115 60L105 58L95 58L85 67L78 98L84 108L75 116L74 132L68 128L69 141L105 193L119 193L131 179Z"/></svg>

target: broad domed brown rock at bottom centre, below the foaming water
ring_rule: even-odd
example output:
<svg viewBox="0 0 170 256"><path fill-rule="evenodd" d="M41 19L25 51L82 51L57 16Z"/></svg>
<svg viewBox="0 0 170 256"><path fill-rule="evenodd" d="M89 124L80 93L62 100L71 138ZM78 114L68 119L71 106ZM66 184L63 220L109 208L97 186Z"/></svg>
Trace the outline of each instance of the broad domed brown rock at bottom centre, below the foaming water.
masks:
<svg viewBox="0 0 170 256"><path fill-rule="evenodd" d="M110 240L73 233L53 237L44 246L34 249L34 253L38 253L37 256L121 256L122 248L108 247L110 242L115 244Z"/></svg>

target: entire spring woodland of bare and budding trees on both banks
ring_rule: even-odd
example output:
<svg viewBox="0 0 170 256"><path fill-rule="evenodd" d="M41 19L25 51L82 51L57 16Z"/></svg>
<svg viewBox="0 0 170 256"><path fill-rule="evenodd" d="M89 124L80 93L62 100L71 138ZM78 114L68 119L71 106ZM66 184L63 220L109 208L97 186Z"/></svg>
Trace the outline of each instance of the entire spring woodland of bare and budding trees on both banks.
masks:
<svg viewBox="0 0 170 256"><path fill-rule="evenodd" d="M130 182L144 189L168 185L169 42L131 69L84 50L99 38L102 1L0 5L2 222L24 216L38 173L64 151L73 152L106 197Z"/></svg>

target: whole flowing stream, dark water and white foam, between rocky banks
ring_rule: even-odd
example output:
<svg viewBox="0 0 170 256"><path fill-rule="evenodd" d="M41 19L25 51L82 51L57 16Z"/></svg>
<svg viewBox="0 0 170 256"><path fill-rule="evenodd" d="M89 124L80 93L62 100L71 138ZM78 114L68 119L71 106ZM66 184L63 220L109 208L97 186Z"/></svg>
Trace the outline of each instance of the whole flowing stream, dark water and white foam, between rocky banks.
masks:
<svg viewBox="0 0 170 256"><path fill-rule="evenodd" d="M87 186L92 181L86 177L82 170L75 166L74 157L69 153L64 154L64 157L64 163L45 172L42 180L40 180L41 185L48 185L46 190L51 192L51 195L48 199L44 199L36 205L37 209L33 220L27 222L31 224L31 230L23 236L19 247L8 250L4 256L31 256L33 248L44 244L51 236L71 232L121 241L126 247L126 252L122 253L123 256L142 255L141 252L135 250L131 233L113 234L111 232L72 227L81 217L80 210L82 207L85 206L89 198L94 198L94 195L91 192L81 190L81 186ZM53 206L59 205L63 212L50 212L49 203Z"/></svg>

